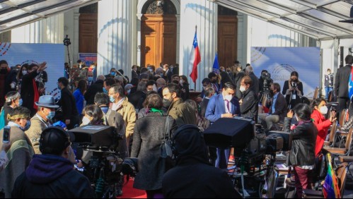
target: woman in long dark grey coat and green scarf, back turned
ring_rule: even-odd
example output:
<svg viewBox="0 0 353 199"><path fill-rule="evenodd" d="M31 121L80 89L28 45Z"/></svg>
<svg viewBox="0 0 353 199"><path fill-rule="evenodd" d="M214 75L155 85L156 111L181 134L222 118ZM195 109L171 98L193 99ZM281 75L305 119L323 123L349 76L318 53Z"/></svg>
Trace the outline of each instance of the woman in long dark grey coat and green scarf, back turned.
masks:
<svg viewBox="0 0 353 199"><path fill-rule="evenodd" d="M131 157L139 159L134 188L146 190L147 198L161 197L163 174L171 165L161 157L160 146L177 126L171 116L163 114L163 100L159 95L148 95L144 107L148 113L136 121L132 141Z"/></svg>

